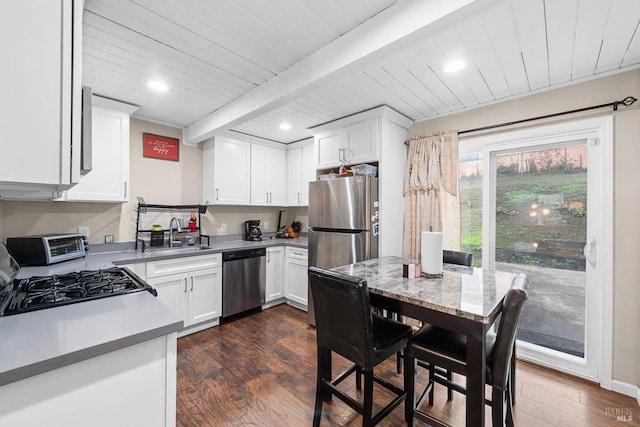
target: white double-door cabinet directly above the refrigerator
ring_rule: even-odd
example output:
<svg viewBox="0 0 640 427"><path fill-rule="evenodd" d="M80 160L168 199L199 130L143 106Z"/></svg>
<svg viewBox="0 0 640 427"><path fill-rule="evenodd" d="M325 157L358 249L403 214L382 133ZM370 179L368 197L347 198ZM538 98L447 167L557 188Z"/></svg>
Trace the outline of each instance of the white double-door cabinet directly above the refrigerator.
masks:
<svg viewBox="0 0 640 427"><path fill-rule="evenodd" d="M378 161L378 120L321 132L315 143L318 169Z"/></svg>

